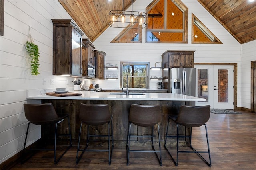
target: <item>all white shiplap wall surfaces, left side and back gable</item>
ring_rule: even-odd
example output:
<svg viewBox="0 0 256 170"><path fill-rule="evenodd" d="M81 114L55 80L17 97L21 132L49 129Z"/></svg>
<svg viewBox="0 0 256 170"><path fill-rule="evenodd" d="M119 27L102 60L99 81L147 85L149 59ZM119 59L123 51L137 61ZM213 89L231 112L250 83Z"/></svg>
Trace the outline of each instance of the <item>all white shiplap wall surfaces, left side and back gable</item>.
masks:
<svg viewBox="0 0 256 170"><path fill-rule="evenodd" d="M136 0L134 10L144 11L150 2L151 0ZM250 89L244 86L249 87L250 80L246 75L250 74L250 70L247 68L250 68L250 61L255 60L256 41L240 45L197 0L182 2L189 8L188 44L146 44L144 38L141 44L110 43L122 31L114 28L108 28L93 44L96 49L106 52L106 63L118 65L120 61L149 61L150 67L154 67L156 62L162 61L161 54L166 50L196 50L196 63L238 63L238 107L250 108L250 100L245 100L250 96ZM223 44L191 44L191 13L194 13ZM70 81L73 78L52 75L51 19L70 19L58 0L5 0L4 36L0 36L0 163L22 149L27 125L23 104L28 102L28 90L72 88ZM28 39L28 27L40 50L38 76L30 75L29 58L24 49L24 43ZM142 37L145 37L144 29ZM245 59L243 62L241 46L242 58ZM109 73L119 75L119 70L106 70L106 74ZM150 70L150 76L161 76L161 71ZM43 85L44 78L47 80L46 85ZM51 79L55 80L55 85L50 85ZM69 84L66 84L66 80ZM100 88L119 88L119 80L95 81L100 84ZM88 85L91 82L92 80L86 80ZM156 82L150 82L150 88L156 89ZM240 97L241 91L246 96ZM38 138L40 128L32 126L28 144Z"/></svg>

